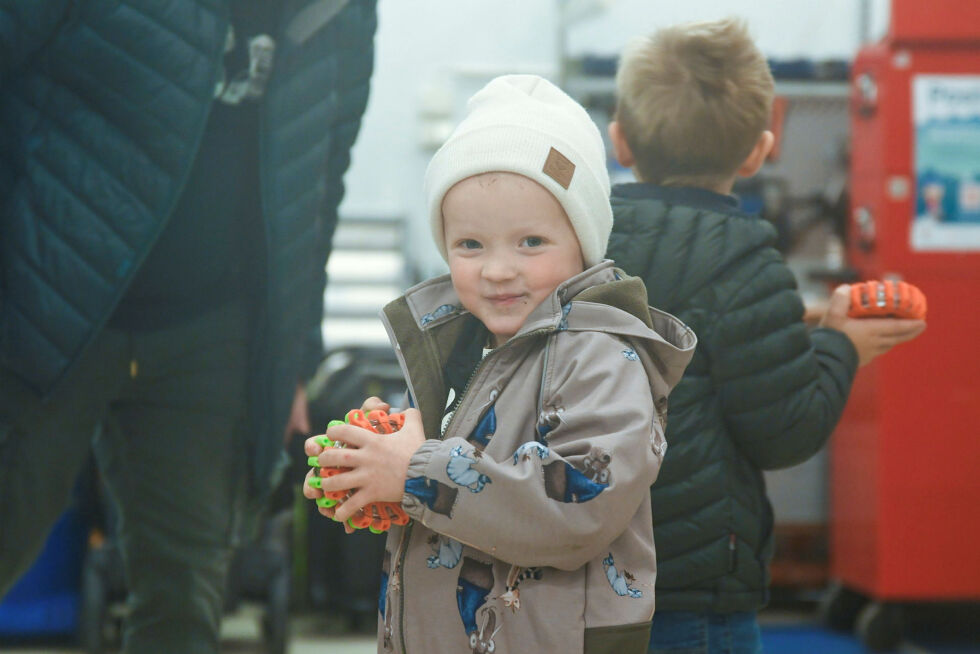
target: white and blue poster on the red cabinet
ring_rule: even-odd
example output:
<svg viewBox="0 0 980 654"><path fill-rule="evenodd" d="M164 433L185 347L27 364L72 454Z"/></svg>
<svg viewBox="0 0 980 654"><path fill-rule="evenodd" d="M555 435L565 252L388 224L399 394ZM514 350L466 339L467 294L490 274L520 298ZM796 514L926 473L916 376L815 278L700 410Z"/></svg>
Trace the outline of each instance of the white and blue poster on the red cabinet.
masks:
<svg viewBox="0 0 980 654"><path fill-rule="evenodd" d="M980 250L980 75L912 80L913 250Z"/></svg>

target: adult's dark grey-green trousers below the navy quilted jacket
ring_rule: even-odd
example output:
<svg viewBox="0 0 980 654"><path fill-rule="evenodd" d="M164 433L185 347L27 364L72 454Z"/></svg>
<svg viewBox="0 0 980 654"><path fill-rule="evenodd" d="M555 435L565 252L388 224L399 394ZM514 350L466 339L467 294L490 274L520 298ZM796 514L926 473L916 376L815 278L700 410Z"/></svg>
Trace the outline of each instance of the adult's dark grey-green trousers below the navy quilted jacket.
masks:
<svg viewBox="0 0 980 654"><path fill-rule="evenodd" d="M130 591L123 651L218 652L248 487L247 364L247 314L231 303L165 330L105 330L44 403L0 376L0 595L30 567L94 445Z"/></svg>

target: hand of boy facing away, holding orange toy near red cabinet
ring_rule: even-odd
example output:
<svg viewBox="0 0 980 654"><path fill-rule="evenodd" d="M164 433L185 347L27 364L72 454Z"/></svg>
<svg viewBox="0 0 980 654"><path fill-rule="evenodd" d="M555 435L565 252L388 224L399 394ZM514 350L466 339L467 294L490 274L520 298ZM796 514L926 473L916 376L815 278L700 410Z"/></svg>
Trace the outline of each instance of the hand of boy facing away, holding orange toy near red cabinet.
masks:
<svg viewBox="0 0 980 654"><path fill-rule="evenodd" d="M820 326L842 331L851 339L858 353L859 366L871 363L875 357L912 340L926 329L924 320L851 318L847 315L850 305L850 285L835 288Z"/></svg>

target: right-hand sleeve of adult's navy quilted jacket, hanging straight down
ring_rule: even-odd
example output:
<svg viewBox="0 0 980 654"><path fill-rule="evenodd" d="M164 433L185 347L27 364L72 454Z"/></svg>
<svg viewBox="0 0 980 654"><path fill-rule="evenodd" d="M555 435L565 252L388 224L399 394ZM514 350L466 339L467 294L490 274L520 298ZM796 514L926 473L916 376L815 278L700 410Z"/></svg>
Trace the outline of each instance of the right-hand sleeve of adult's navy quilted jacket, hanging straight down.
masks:
<svg viewBox="0 0 980 654"><path fill-rule="evenodd" d="M330 257L334 231L337 228L337 209L344 198L344 174L350 166L350 153L361 128L361 119L367 107L371 74L374 70L374 32L377 16L374 2L349 3L334 19L337 22L335 47L341 48L336 56L336 93L340 96L333 121L327 126L330 147L324 168L323 201L317 216L316 251L322 253L314 265L319 280L317 292L309 301L309 326L303 347L301 377L309 379L323 359L323 292L326 287L326 263Z"/></svg>

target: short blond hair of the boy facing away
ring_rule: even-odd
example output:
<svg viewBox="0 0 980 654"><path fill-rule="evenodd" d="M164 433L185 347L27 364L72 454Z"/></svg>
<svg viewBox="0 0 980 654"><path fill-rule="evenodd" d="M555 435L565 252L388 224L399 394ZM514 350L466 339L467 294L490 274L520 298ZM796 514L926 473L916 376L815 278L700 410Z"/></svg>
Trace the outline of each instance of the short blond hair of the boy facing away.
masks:
<svg viewBox="0 0 980 654"><path fill-rule="evenodd" d="M620 59L616 87L616 120L644 182L724 182L769 125L772 73L734 18L634 41Z"/></svg>

